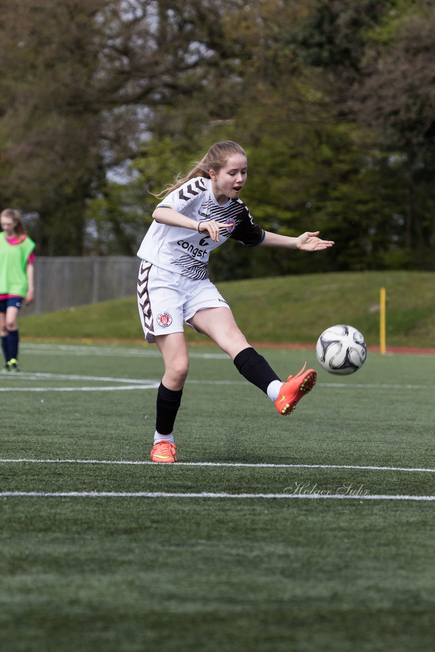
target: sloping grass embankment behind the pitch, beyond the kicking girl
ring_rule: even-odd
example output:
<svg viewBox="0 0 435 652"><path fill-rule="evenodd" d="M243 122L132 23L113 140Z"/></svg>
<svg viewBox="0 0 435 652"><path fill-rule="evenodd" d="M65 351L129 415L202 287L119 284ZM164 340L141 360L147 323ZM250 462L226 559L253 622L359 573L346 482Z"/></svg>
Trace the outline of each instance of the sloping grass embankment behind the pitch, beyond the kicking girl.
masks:
<svg viewBox="0 0 435 652"><path fill-rule="evenodd" d="M387 294L387 347L435 346L435 274L361 272L255 278L218 283L251 342L314 345L322 331L348 323L379 344L379 296ZM136 297L22 317L24 338L142 340ZM187 329L190 342L205 342Z"/></svg>

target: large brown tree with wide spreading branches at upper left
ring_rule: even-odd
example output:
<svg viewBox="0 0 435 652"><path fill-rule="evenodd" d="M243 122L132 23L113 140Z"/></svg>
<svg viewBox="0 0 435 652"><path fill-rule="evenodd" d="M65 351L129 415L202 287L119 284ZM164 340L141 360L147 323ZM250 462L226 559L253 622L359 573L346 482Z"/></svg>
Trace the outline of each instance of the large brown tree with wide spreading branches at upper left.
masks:
<svg viewBox="0 0 435 652"><path fill-rule="evenodd" d="M0 3L3 205L34 216L42 254L84 252L85 207L107 173L219 74L222 3Z"/></svg>

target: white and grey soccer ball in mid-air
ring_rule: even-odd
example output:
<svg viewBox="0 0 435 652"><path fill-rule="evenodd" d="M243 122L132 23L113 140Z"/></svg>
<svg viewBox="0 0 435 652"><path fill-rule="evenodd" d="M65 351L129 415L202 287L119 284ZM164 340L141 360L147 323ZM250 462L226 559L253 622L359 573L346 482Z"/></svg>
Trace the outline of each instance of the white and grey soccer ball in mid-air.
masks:
<svg viewBox="0 0 435 652"><path fill-rule="evenodd" d="M367 346L353 326L339 324L323 331L316 344L317 359L330 374L353 374L365 363Z"/></svg>

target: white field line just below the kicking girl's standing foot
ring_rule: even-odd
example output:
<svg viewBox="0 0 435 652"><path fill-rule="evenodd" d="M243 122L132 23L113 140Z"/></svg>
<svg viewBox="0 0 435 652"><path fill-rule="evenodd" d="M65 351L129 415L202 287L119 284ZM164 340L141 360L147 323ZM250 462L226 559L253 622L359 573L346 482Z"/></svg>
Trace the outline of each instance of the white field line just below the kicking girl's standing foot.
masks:
<svg viewBox="0 0 435 652"><path fill-rule="evenodd" d="M243 462L177 462L177 464L156 464L148 460L38 460L35 458L1 459L4 464L125 464L127 466L160 466L175 469L182 466L217 466L250 469L353 469L357 471L415 471L416 473L435 473L435 469L408 466L357 466L356 464L245 464Z"/></svg>

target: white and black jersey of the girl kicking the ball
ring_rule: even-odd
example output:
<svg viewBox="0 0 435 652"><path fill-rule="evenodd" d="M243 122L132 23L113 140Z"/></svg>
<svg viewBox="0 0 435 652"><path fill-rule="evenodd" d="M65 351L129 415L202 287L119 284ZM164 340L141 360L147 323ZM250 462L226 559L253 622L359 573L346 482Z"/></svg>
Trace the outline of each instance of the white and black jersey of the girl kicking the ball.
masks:
<svg viewBox="0 0 435 652"><path fill-rule="evenodd" d="M226 224L215 243L208 234L153 220L140 245L138 257L188 278L208 278L209 254L228 238L247 246L256 246L264 238L264 231L254 224L245 203L235 199L220 206L215 200L211 179L205 177L190 179L170 192L158 207L172 208L197 222L215 220Z"/></svg>

